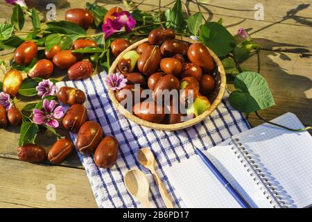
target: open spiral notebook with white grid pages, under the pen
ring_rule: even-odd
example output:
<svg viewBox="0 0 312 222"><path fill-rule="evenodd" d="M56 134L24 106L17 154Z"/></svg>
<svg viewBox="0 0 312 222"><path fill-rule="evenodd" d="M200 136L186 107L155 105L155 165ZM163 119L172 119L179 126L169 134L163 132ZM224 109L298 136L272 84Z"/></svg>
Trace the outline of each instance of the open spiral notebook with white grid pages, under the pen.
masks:
<svg viewBox="0 0 312 222"><path fill-rule="evenodd" d="M290 112L272 121L303 127ZM312 137L307 131L265 123L204 153L252 207L312 204ZM198 155L168 167L166 173L185 207L240 207Z"/></svg>

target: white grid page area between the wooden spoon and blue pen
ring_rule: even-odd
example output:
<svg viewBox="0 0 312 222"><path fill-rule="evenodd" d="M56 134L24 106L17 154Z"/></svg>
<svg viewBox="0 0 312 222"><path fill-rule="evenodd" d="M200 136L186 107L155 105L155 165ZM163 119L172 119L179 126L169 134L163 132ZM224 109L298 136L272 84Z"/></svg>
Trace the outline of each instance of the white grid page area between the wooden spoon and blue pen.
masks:
<svg viewBox="0 0 312 222"><path fill-rule="evenodd" d="M198 155L168 167L166 173L186 207L241 207Z"/></svg>

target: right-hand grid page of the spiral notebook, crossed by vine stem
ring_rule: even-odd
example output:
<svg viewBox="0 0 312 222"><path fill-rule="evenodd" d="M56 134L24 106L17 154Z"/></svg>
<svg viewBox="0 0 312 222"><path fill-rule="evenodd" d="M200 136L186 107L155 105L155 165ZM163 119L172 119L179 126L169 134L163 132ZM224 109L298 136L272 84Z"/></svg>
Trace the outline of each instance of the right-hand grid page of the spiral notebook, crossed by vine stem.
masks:
<svg viewBox="0 0 312 222"><path fill-rule="evenodd" d="M302 123L290 112L273 120L290 128ZM312 137L308 132L292 132L267 123L234 136L270 173L270 182L290 207L312 203Z"/></svg>

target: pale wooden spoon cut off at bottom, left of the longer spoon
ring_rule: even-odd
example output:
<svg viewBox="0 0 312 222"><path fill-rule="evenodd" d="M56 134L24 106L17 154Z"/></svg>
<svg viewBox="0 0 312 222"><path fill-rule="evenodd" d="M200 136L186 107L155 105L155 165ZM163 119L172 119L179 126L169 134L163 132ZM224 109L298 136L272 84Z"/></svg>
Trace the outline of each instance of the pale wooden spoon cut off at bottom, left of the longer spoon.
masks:
<svg viewBox="0 0 312 222"><path fill-rule="evenodd" d="M125 187L128 192L137 198L144 207L150 208L150 201L148 200L148 192L150 189L150 184L145 174L139 169L132 169L125 173Z"/></svg>

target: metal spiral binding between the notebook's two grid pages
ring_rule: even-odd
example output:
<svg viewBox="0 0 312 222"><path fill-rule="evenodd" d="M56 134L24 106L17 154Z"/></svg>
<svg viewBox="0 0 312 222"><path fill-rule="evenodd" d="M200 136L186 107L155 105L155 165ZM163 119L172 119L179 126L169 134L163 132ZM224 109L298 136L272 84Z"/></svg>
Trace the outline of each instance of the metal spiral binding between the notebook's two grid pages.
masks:
<svg viewBox="0 0 312 222"><path fill-rule="evenodd" d="M232 146L232 150L236 156L241 160L241 163L245 163L243 166L248 168L247 171L251 172L250 176L253 177L254 181L257 181L257 185L264 189L263 194L270 201L273 207L277 208L288 208L288 200L284 198L282 190L274 185L274 182L270 181L270 176L266 173L265 169L259 167L259 164L255 161L255 158L251 153L247 151L245 146L239 141L239 139L233 139L229 145Z"/></svg>

